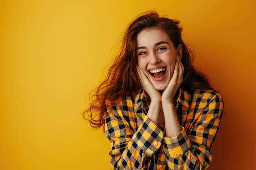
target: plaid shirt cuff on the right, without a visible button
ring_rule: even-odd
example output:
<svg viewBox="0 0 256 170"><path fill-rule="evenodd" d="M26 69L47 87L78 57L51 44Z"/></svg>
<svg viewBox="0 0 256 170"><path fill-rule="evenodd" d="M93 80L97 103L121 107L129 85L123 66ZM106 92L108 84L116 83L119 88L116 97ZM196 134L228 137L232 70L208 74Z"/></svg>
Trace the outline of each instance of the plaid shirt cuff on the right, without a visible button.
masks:
<svg viewBox="0 0 256 170"><path fill-rule="evenodd" d="M189 137L186 135L185 128L181 128L182 131L177 136L163 138L164 150L168 157L178 157L191 147L191 143Z"/></svg>

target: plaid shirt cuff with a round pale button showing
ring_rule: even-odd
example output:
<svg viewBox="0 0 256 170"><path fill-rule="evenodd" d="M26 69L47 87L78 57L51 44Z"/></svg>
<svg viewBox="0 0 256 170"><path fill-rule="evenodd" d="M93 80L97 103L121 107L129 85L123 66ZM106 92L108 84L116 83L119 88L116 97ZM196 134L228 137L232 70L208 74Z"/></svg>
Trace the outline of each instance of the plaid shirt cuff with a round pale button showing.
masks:
<svg viewBox="0 0 256 170"><path fill-rule="evenodd" d="M157 151L163 141L164 132L158 128L147 116L144 117L141 125L133 135L133 144L146 152L147 156L152 156Z"/></svg>

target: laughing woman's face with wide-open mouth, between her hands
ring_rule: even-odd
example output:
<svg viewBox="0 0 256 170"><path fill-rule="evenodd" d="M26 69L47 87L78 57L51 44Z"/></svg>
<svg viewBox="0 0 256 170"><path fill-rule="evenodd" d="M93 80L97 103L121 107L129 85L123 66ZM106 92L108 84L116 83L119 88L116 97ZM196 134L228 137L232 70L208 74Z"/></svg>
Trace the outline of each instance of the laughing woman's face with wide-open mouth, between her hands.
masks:
<svg viewBox="0 0 256 170"><path fill-rule="evenodd" d="M162 29L144 29L137 35L137 57L139 68L153 86L164 90L173 76L178 51Z"/></svg>

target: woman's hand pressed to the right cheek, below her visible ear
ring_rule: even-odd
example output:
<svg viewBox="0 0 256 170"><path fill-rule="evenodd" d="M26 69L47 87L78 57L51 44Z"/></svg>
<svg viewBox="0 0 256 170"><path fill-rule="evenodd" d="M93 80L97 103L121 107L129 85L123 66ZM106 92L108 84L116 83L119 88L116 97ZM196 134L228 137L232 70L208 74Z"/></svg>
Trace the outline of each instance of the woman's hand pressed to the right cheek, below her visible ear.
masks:
<svg viewBox="0 0 256 170"><path fill-rule="evenodd" d="M175 93L177 92L178 88L180 87L180 84L183 80L183 72L184 72L184 66L181 63L181 58L176 57L176 64L173 71L173 77L171 78L168 86L162 93L161 102L163 103L173 103L173 97Z"/></svg>

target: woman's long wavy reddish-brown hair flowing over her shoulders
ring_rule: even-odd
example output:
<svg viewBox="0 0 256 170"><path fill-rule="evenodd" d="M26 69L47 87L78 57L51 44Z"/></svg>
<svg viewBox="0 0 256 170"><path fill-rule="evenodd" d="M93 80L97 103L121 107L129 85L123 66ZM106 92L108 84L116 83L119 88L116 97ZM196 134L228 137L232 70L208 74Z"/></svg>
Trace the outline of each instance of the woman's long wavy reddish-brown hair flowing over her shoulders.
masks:
<svg viewBox="0 0 256 170"><path fill-rule="evenodd" d="M88 113L92 127L101 127L104 124L107 106L106 99L109 101L123 99L141 90L142 86L136 71L136 38L137 34L146 28L162 29L167 33L175 48L180 44L182 45L181 62L184 66L184 74L180 87L184 91L193 91L196 89L214 91L207 78L192 65L193 55L182 40L182 28L178 26L179 23L178 20L159 17L156 12L147 12L139 15L128 26L124 34L119 55L109 68L106 79L92 92L94 93L94 99L90 101L90 108L83 112L84 117Z"/></svg>

